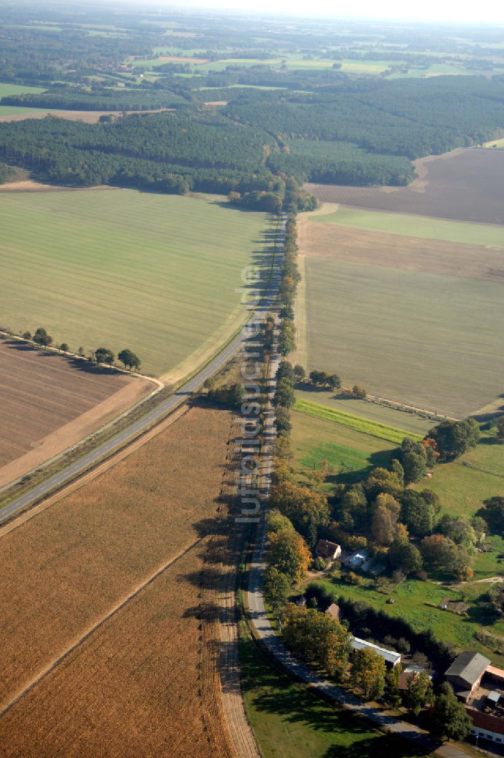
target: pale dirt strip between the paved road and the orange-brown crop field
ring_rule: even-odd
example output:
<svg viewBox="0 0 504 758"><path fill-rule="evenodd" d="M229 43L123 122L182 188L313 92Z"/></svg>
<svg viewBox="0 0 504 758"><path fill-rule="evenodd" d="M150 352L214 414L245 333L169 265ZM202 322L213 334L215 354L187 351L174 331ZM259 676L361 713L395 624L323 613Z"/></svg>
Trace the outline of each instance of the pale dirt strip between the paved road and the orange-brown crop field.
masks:
<svg viewBox="0 0 504 758"><path fill-rule="evenodd" d="M30 521L31 518L39 515L39 513L42 513L42 511L45 511L45 509L54 506L55 503L58 503L58 500L63 500L64 497L71 495L76 490L80 490L80 487L85 487L86 484L89 484L89 482L93 481L93 479L101 476L102 474L105 474L105 471L108 471L109 468L112 468L112 466L116 465L117 463L121 463L121 461L130 456L131 453L135 453L137 449L150 442L154 437L171 426L171 424L174 424L175 421L178 421L179 418L189 413L189 410L190 408L186 403L183 403L182 406L178 406L171 412L170 415L167 416L167 418L164 418L163 421L161 421L159 424L155 424L155 426L144 432L140 437L132 440L130 443L117 450L115 453L111 453L111 456L96 465L94 468L90 468L89 471L85 471L69 484L66 484L64 487L62 487L61 490L58 490L52 495L49 495L44 500L41 500L40 503L37 503L35 506L31 508L29 507L27 511L20 513L20 515L14 517L4 526L0 526L0 539L2 537L5 537L6 534L9 534L9 532L20 528L23 526L23 524L26 524L26 522Z"/></svg>

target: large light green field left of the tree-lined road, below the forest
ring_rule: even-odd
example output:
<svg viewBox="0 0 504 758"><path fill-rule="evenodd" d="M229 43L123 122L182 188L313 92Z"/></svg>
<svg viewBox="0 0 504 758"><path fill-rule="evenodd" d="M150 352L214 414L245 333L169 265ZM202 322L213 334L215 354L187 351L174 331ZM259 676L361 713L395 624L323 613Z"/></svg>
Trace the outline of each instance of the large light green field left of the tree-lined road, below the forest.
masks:
<svg viewBox="0 0 504 758"><path fill-rule="evenodd" d="M0 324L70 349L130 347L185 374L245 318L241 271L266 265L265 214L129 189L4 194ZM172 374L173 377L173 374Z"/></svg>

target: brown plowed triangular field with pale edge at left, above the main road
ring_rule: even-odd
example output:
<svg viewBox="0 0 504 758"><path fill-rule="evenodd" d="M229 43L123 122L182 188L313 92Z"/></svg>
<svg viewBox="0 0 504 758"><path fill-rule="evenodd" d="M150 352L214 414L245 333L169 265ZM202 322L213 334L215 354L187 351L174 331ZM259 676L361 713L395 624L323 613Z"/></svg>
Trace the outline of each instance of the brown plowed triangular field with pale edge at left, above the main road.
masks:
<svg viewBox="0 0 504 758"><path fill-rule="evenodd" d="M0 340L0 487L154 389L146 379Z"/></svg>

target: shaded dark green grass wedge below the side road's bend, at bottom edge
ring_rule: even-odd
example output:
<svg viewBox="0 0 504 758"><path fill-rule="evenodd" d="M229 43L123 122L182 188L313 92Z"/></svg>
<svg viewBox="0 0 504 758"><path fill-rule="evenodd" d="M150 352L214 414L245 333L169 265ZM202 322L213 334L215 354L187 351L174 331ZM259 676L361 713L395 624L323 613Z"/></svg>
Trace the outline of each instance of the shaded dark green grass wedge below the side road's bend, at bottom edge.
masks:
<svg viewBox="0 0 504 758"><path fill-rule="evenodd" d="M243 698L263 758L406 758L418 750L309 694L270 666L242 636L239 661Z"/></svg>

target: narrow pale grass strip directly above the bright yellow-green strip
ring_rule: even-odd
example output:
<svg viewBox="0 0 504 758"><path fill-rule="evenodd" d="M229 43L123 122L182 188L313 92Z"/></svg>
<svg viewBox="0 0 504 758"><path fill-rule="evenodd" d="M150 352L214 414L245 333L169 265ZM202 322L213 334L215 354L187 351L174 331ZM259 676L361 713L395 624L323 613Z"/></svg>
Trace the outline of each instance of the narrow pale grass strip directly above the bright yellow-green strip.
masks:
<svg viewBox="0 0 504 758"><path fill-rule="evenodd" d="M318 402L321 406L352 413L362 418L368 418L370 421L377 421L378 424L403 429L405 434L418 434L421 437L424 437L435 423L432 419L421 418L415 413L385 408L378 406L375 402L350 398L344 393L335 394L332 390L320 390L318 387L311 387L309 384L296 387L296 398Z"/></svg>

